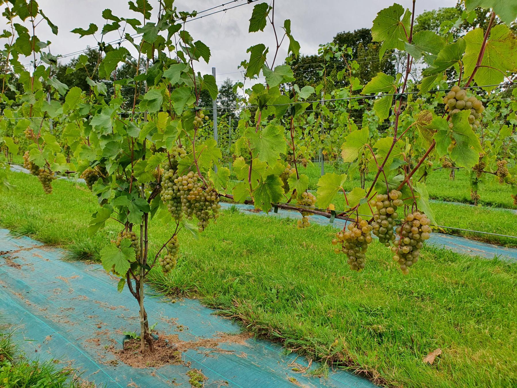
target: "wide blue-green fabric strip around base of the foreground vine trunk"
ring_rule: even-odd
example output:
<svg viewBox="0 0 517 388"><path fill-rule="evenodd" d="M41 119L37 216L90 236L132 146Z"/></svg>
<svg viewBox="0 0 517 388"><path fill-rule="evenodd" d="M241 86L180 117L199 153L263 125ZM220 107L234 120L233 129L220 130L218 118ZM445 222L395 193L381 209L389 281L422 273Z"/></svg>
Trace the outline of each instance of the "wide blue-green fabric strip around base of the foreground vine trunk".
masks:
<svg viewBox="0 0 517 388"><path fill-rule="evenodd" d="M317 363L305 372L295 371L306 369L307 360L252 338L188 349L179 365L133 368L117 361L110 349L122 348L124 331L139 331L138 305L126 288L117 292L116 280L100 265L63 261L62 250L28 237L14 238L5 229L0 229L0 251L2 323L16 330L27 356L69 365L97 386L190 386L187 372L193 368L206 377L205 387L214 388L375 386L343 370L330 372L327 379L311 376ZM147 294L146 306L149 323L157 322L159 333L175 334L182 341L217 341L223 333L240 333L238 324L196 300L172 303Z"/></svg>

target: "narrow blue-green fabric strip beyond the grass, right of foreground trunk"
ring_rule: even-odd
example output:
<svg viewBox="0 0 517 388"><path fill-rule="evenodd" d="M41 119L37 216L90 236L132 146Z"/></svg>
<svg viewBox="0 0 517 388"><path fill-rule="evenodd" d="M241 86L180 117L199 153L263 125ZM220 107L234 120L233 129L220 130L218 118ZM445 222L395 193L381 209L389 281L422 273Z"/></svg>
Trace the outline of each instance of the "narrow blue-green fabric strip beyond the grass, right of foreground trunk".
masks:
<svg viewBox="0 0 517 388"><path fill-rule="evenodd" d="M221 204L221 208L230 208L232 206L236 206L240 212L252 214L252 215L262 215L269 217L282 217L282 218L293 218L293 219L301 219L301 214L295 211L278 209L278 213L274 213L273 210L269 213L251 213L251 210L254 210L253 205L245 205L239 203L227 203L227 202L219 202ZM334 228L342 229L345 226L345 221L341 219L334 219L333 223L330 223L329 219L320 215L311 215L309 217L310 222L315 222L318 225L330 225ZM517 249L515 248L506 248L495 244L483 243L476 240L470 240L469 238L453 236L449 234L442 233L431 233L431 237L428 240L428 244L435 245L439 248L450 249L454 252L464 253L467 255L480 256L486 259L493 259L494 257L498 257L501 260L517 262Z"/></svg>

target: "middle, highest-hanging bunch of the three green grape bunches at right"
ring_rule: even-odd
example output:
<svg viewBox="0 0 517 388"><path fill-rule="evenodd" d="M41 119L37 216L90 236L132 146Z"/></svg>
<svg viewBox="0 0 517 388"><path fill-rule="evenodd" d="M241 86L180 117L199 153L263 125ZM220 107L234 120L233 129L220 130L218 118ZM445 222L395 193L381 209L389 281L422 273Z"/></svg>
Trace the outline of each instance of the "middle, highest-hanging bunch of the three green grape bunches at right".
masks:
<svg viewBox="0 0 517 388"><path fill-rule="evenodd" d="M379 242L389 247L395 240L393 228L399 215L397 207L402 206L402 192L391 190L389 194L378 194L370 205L375 207L374 221L372 222L373 234L379 237Z"/></svg>

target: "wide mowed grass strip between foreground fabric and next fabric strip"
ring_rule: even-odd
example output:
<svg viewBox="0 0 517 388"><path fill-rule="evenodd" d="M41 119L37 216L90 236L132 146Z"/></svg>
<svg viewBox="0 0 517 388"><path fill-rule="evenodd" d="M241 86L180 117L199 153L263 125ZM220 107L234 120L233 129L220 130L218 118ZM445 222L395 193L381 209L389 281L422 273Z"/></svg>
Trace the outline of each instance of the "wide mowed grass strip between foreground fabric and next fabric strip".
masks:
<svg viewBox="0 0 517 388"><path fill-rule="evenodd" d="M33 176L11 173L16 189L0 201L0 223L63 246L78 259L98 259L119 230L113 221L94 237L86 227L98 209L82 186L58 180L44 195ZM349 270L332 252L335 230L298 230L290 219L224 211L199 240L180 235L181 256L160 291L198 297L253 333L288 349L388 386L515 386L517 266L433 247L403 276L387 248L374 242L366 270ZM171 226L153 222L150 254ZM135 304L135 308L137 308ZM124 325L121 322L121 325ZM422 357L440 348L432 364Z"/></svg>

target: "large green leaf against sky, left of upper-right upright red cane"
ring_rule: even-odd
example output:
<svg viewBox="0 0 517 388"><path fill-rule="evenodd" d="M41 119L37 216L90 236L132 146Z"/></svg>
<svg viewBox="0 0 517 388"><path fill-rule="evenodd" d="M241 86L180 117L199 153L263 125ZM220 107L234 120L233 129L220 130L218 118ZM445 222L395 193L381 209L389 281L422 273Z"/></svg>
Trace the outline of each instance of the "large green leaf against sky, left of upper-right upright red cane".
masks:
<svg viewBox="0 0 517 388"><path fill-rule="evenodd" d="M404 16L401 20L402 15ZM399 4L393 4L377 13L372 26L372 41L383 41L379 50L379 61L382 60L386 50L404 50L404 42L407 41L407 34L409 34L410 18L409 9L404 12L404 8Z"/></svg>

